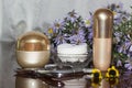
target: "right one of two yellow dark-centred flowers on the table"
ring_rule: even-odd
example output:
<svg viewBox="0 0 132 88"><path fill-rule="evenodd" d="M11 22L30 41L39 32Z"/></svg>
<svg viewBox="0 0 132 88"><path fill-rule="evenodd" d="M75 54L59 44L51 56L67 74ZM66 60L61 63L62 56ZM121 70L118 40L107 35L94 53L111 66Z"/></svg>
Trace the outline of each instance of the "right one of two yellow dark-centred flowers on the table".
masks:
<svg viewBox="0 0 132 88"><path fill-rule="evenodd" d="M106 77L119 77L119 70L112 66L111 68L108 68Z"/></svg>

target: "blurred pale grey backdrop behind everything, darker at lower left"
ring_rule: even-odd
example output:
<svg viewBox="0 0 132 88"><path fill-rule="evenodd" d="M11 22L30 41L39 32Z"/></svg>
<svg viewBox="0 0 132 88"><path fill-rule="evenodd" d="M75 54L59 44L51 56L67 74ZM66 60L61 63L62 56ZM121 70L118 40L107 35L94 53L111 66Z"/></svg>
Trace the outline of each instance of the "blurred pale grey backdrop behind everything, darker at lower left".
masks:
<svg viewBox="0 0 132 88"><path fill-rule="evenodd" d="M111 3L123 3L131 11L131 0L0 0L0 88L15 88L15 42L19 35L37 30L45 32L51 24L75 10L87 18Z"/></svg>

